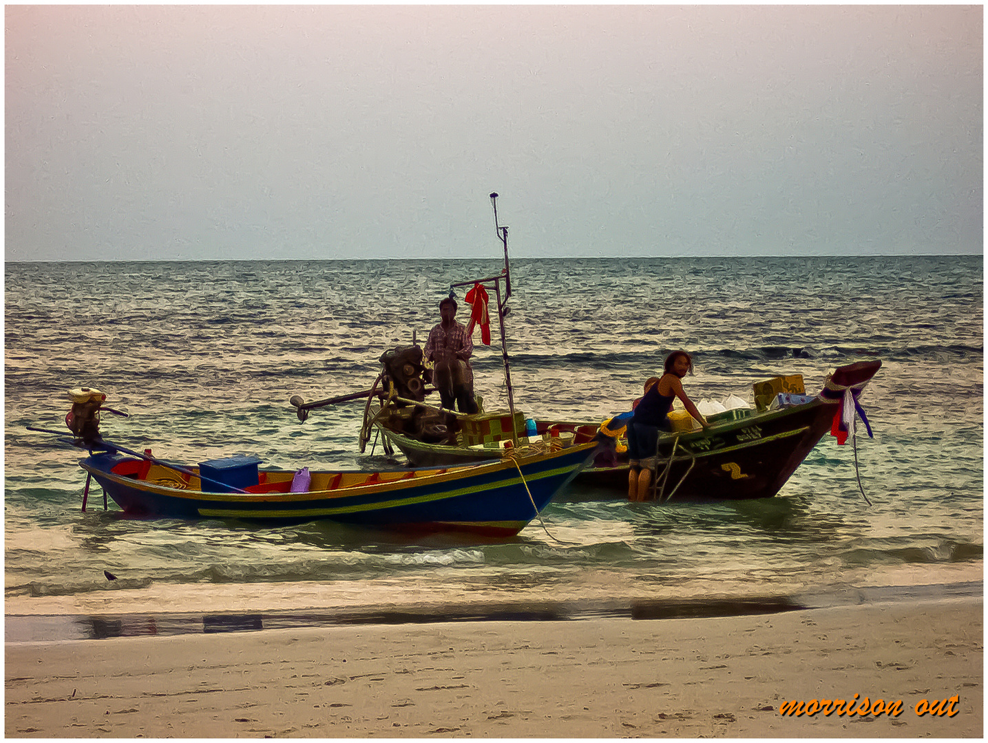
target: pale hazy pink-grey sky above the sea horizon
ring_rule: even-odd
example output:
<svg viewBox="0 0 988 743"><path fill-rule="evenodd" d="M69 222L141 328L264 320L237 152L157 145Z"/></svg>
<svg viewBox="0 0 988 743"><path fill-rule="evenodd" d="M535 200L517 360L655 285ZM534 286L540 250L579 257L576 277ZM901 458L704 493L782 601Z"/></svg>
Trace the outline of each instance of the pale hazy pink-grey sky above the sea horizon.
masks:
<svg viewBox="0 0 988 743"><path fill-rule="evenodd" d="M6 260L983 251L980 6L5 8Z"/></svg>

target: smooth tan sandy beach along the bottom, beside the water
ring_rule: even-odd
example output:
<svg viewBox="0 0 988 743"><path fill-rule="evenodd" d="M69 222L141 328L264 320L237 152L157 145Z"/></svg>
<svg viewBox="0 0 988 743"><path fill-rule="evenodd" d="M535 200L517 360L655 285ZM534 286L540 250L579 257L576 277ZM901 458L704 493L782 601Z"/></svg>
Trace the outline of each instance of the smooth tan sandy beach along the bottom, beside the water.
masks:
<svg viewBox="0 0 988 743"><path fill-rule="evenodd" d="M977 738L982 618L979 597L8 643L5 734Z"/></svg>

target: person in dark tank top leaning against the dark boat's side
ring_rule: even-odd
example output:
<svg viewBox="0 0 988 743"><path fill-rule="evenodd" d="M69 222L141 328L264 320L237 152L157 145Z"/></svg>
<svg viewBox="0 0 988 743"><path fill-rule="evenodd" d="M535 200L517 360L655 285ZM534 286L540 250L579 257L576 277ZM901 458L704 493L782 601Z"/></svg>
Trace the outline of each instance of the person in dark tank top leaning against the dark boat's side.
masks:
<svg viewBox="0 0 988 743"><path fill-rule="evenodd" d="M641 402L634 408L634 414L627 424L627 499L644 500L652 483L652 471L656 469L656 447L659 431L671 430L669 410L673 401L679 398L683 407L694 416L703 428L709 424L700 415L683 389L683 377L693 371L693 357L686 351L673 351L666 356L664 373L659 381L647 386ZM651 380L649 380L651 381Z"/></svg>

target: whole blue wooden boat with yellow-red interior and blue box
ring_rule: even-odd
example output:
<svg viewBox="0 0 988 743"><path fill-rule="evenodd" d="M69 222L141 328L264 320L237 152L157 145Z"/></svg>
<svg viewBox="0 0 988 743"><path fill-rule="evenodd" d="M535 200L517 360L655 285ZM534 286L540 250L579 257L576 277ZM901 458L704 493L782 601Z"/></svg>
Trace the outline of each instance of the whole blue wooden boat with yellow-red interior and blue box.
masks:
<svg viewBox="0 0 988 743"><path fill-rule="evenodd" d="M187 467L127 456L123 447L107 442L96 448L107 451L91 452L79 466L124 513L135 516L328 519L415 533L505 537L524 529L592 461L596 443L556 451L523 447L496 461L441 470L311 473L259 469L259 460L250 457Z"/></svg>

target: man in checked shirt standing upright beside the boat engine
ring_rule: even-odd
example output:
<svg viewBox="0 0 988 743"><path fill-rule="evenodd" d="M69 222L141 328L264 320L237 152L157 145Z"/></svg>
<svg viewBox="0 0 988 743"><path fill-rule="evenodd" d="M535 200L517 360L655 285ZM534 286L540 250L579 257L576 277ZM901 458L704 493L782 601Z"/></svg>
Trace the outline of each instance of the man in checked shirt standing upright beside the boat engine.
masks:
<svg viewBox="0 0 988 743"><path fill-rule="evenodd" d="M456 300L447 297L439 303L441 322L429 334L426 341L426 360L435 364L433 384L439 390L443 407L460 412L477 411L473 399L473 367L470 356L473 353L473 340L466 329L456 322Z"/></svg>

